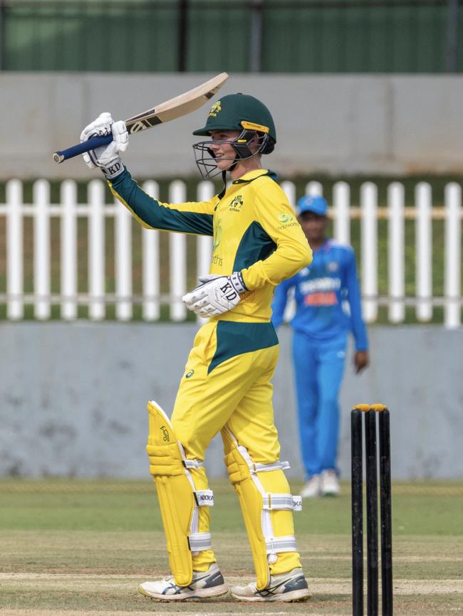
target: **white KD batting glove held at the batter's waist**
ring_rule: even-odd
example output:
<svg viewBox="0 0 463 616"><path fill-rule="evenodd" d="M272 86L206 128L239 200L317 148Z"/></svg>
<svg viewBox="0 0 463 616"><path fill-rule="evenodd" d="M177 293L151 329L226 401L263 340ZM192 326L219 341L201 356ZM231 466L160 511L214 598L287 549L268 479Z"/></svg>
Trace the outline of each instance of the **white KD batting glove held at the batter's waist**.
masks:
<svg viewBox="0 0 463 616"><path fill-rule="evenodd" d="M203 276L199 281L202 285L183 297L184 304L198 317L216 317L228 312L241 301L239 294L247 291L241 272L231 276Z"/></svg>

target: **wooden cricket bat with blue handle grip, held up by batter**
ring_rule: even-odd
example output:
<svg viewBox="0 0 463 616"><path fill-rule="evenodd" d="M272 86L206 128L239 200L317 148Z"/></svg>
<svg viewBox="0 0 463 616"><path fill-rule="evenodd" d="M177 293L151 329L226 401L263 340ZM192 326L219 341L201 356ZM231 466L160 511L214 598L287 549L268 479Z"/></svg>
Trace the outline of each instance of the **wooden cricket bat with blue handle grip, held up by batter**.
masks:
<svg viewBox="0 0 463 616"><path fill-rule="evenodd" d="M156 107L152 107L152 109L130 117L128 120L125 120L125 126L129 134L141 132L157 124L170 122L170 120L176 120L177 117L182 117L192 111L196 111L216 94L227 79L227 73L220 73L209 79L209 81L194 87L192 90L184 92L184 94L161 102ZM68 149L63 149L61 152L55 152L53 160L57 163L62 163L67 159L73 158L73 156L78 156L78 154L83 154L83 152L88 152L90 149L95 149L95 147L106 145L112 141L113 135L110 134L106 137L91 137L88 141L68 147Z"/></svg>

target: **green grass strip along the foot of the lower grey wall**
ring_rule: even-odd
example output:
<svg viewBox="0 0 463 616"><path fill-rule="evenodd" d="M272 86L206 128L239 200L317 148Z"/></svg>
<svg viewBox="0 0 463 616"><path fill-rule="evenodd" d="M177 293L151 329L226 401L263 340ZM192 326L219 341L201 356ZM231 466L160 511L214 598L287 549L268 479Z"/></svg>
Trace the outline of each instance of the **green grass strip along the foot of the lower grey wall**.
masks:
<svg viewBox="0 0 463 616"><path fill-rule="evenodd" d="M212 529L244 531L234 489L212 484ZM297 483L293 490L300 487ZM419 489L417 489L419 488ZM396 482L392 522L398 535L463 536L463 483ZM0 480L0 530L161 531L155 487L146 482L95 479ZM350 492L338 499L304 501L295 515L301 533L350 533Z"/></svg>

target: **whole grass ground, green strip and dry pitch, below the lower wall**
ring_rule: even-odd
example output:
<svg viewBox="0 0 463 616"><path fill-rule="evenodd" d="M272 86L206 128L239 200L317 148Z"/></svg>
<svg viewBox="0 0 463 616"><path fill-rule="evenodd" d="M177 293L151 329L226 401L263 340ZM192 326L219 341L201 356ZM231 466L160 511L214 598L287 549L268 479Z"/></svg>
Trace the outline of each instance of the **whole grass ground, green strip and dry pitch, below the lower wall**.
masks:
<svg viewBox="0 0 463 616"><path fill-rule="evenodd" d="M229 583L249 581L251 554L234 491L224 481L212 489L219 565ZM395 615L463 614L462 511L463 483L393 484ZM140 581L167 574L149 479L1 480L0 614L351 614L348 485L337 499L304 501L295 521L310 602L243 604L226 596L170 605L137 593Z"/></svg>

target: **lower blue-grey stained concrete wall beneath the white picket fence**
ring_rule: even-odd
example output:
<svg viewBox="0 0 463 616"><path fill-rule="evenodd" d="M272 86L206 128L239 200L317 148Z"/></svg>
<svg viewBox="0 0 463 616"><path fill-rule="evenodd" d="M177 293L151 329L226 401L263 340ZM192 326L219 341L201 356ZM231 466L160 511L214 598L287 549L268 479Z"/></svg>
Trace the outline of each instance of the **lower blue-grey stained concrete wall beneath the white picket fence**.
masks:
<svg viewBox="0 0 463 616"><path fill-rule="evenodd" d="M194 324L0 324L0 475L146 477L145 402L170 413ZM290 332L280 332L274 378L282 457L301 477ZM374 327L372 365L346 366L340 468L350 467L350 408L381 402L392 413L396 478L463 477L463 329ZM217 437L207 454L224 474Z"/></svg>

